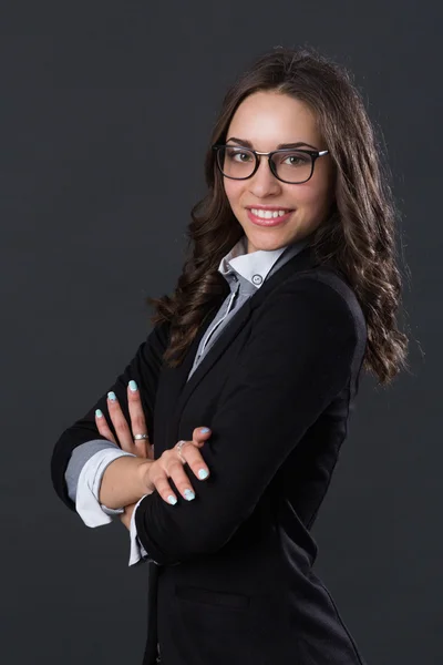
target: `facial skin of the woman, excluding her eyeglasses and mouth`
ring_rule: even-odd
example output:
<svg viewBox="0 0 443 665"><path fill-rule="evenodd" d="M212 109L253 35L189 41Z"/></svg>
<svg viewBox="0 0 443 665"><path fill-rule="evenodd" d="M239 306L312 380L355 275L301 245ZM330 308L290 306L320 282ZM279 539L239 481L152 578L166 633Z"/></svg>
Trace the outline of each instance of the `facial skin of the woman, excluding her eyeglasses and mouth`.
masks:
<svg viewBox="0 0 443 665"><path fill-rule="evenodd" d="M236 140L233 140L233 137ZM248 143L249 142L249 143ZM257 151L278 150L280 143L300 142L306 150L326 150L312 111L287 94L256 92L238 106L228 126L226 143ZM224 177L226 196L248 239L248 254L278 249L312 233L327 217L333 202L333 165L329 154L316 161L312 177L301 184L282 183L259 157L257 172L247 180ZM277 226L259 226L250 208L290 209ZM249 209L248 209L249 208Z"/></svg>

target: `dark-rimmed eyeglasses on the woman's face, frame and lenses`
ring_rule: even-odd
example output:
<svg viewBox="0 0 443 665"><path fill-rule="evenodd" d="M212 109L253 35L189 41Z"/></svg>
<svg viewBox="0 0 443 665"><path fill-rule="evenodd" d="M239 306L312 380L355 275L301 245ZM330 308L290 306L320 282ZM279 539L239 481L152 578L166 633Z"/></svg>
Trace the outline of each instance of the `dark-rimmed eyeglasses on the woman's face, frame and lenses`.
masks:
<svg viewBox="0 0 443 665"><path fill-rule="evenodd" d="M258 155L267 155L272 174L282 183L291 185L306 183L312 176L318 157L329 153L329 150L295 150L293 147L264 153L240 145L219 143L212 147L216 151L217 166L226 177L233 180L251 177L259 166Z"/></svg>

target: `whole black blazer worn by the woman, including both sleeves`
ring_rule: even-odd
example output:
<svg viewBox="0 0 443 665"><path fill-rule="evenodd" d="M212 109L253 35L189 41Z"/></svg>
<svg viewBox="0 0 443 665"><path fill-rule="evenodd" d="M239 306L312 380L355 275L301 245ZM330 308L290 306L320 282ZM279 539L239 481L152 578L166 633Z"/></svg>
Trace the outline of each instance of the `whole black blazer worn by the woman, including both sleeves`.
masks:
<svg viewBox="0 0 443 665"><path fill-rule="evenodd" d="M101 438L95 408L112 389L141 388L155 457L195 427L210 470L196 498L169 505L157 492L136 512L148 562L143 664L361 665L354 641L312 571L310 529L327 492L358 390L367 342L359 303L342 275L309 246L274 273L233 316L187 381L208 316L177 369L162 367L168 325L156 326L84 418L54 448L52 480L64 503L72 450ZM174 489L176 489L174 487Z"/></svg>

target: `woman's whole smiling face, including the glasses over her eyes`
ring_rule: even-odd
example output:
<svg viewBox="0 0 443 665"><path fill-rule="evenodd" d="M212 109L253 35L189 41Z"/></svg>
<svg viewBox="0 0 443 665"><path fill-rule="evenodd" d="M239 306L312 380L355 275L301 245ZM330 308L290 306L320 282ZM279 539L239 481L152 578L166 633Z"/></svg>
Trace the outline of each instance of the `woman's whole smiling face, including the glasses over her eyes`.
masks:
<svg viewBox="0 0 443 665"><path fill-rule="evenodd" d="M305 102L284 92L255 92L238 106L227 135L225 160L217 163L230 207L248 237L248 252L278 249L324 222L334 201L334 165ZM288 137L295 141L285 142ZM250 149L246 160L238 158L243 145ZM256 154L261 155L257 161ZM269 223L251 208L290 213Z"/></svg>

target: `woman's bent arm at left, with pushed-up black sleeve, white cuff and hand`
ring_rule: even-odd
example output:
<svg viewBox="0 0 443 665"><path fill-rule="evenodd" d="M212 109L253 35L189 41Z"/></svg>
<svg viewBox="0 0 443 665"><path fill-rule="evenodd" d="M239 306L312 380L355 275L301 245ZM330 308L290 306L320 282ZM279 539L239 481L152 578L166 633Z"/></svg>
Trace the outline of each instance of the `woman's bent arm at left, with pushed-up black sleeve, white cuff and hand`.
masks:
<svg viewBox="0 0 443 665"><path fill-rule="evenodd" d="M157 326L107 393L65 430L55 446L52 458L55 490L69 508L78 509L90 526L110 522L110 515L117 515L130 530L132 513L142 497L154 490L165 501L174 495L168 477L182 494L192 488L177 454L165 451L154 462L153 446L133 440L135 432L153 432L152 405L166 342L167 327ZM202 469L208 471L198 452L208 436L210 432L195 430L194 446L182 449L182 458L196 474ZM63 462L68 488L58 483L58 467Z"/></svg>

